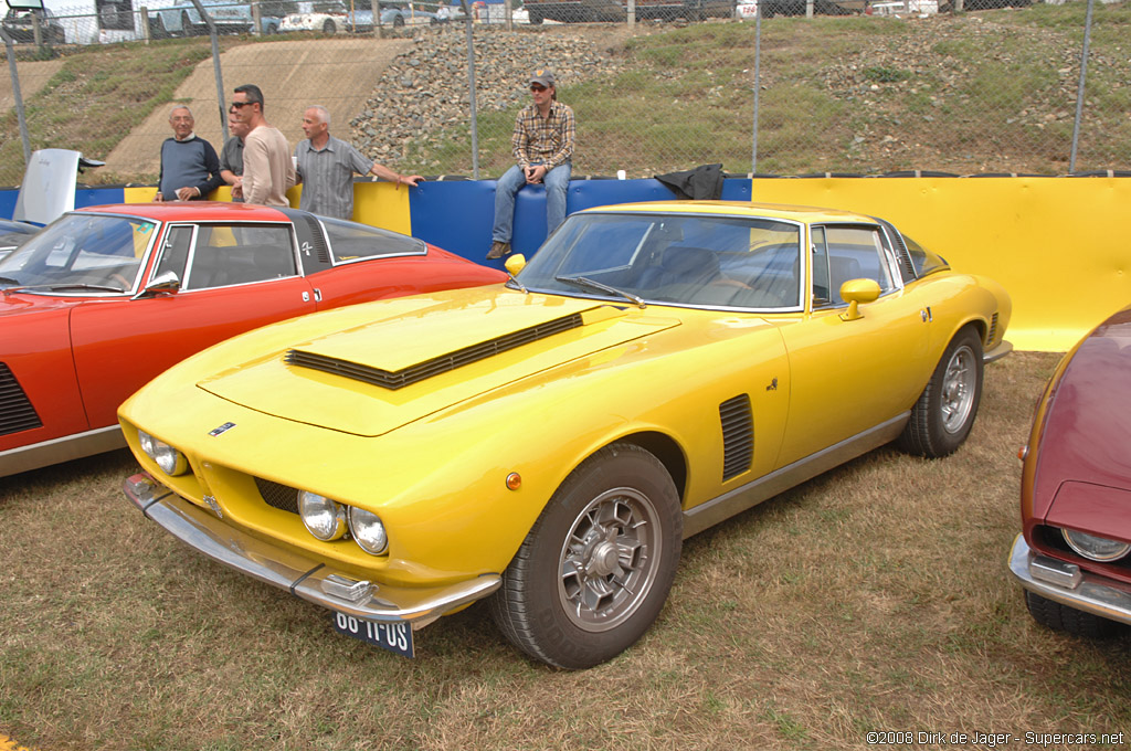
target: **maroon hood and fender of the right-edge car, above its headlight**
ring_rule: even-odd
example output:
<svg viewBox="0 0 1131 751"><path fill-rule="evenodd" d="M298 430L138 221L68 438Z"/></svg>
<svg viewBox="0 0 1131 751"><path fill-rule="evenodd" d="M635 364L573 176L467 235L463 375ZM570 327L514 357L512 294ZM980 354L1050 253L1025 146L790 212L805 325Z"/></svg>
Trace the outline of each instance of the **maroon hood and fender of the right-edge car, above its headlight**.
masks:
<svg viewBox="0 0 1131 751"><path fill-rule="evenodd" d="M1131 307L1068 363L1042 431L1034 491L1038 517L1063 515L1077 498L1131 511Z"/></svg>

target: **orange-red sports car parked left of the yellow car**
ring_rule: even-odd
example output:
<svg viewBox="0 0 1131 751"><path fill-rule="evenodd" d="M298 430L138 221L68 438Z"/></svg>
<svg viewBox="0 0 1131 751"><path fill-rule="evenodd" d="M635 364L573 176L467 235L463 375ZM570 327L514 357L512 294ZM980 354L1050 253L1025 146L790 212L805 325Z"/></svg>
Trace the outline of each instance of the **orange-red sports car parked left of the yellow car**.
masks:
<svg viewBox="0 0 1131 751"><path fill-rule="evenodd" d="M0 261L0 476L126 446L126 397L241 331L506 278L421 240L294 209L71 212Z"/></svg>

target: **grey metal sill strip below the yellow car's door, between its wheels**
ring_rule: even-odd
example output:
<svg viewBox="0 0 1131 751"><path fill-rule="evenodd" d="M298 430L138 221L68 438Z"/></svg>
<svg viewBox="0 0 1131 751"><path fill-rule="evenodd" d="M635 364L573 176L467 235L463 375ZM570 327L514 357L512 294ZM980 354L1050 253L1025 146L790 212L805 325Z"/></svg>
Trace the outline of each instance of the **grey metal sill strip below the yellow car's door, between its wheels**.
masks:
<svg viewBox="0 0 1131 751"><path fill-rule="evenodd" d="M904 412L862 433L746 483L742 487L688 509L683 512L683 538L687 539L699 534L703 529L800 485L822 472L828 472L862 454L890 443L899 437L908 420L910 420L910 412Z"/></svg>

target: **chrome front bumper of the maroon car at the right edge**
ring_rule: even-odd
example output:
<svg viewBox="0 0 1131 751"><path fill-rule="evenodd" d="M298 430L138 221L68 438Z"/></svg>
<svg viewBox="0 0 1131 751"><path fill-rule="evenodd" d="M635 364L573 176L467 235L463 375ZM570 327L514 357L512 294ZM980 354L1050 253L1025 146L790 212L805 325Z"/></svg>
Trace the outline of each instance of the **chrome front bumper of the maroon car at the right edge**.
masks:
<svg viewBox="0 0 1131 751"><path fill-rule="evenodd" d="M1034 553L1017 536L1009 554L1009 570L1026 589L1053 602L1112 621L1131 623L1131 593L1111 579L1081 571L1074 563Z"/></svg>

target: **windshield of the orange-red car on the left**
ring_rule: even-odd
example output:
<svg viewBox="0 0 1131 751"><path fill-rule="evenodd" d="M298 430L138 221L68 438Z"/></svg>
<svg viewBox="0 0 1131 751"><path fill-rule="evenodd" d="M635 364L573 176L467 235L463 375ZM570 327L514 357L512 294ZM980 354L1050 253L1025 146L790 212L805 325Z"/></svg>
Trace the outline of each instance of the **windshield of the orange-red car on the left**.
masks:
<svg viewBox="0 0 1131 751"><path fill-rule="evenodd" d="M67 214L0 261L0 288L129 292L156 228L133 217Z"/></svg>

